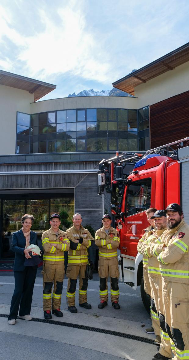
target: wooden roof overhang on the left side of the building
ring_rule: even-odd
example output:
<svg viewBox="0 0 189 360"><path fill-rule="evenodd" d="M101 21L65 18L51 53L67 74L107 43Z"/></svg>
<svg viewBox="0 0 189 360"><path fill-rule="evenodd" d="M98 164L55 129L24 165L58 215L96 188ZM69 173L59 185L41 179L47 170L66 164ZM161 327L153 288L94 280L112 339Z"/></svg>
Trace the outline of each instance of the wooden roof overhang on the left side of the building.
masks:
<svg viewBox="0 0 189 360"><path fill-rule="evenodd" d="M0 84L15 87L20 90L26 90L30 94L34 94L34 102L50 93L50 91L56 89L56 85L3 70L0 70Z"/></svg>

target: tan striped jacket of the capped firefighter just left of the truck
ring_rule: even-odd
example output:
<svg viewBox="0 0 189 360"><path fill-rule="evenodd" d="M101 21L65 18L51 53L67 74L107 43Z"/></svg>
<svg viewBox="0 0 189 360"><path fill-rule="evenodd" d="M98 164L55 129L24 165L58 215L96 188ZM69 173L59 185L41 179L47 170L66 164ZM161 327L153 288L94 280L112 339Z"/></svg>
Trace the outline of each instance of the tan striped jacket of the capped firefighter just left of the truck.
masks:
<svg viewBox="0 0 189 360"><path fill-rule="evenodd" d="M98 256L104 259L117 257L117 248L120 243L119 233L110 226L108 233L104 227L98 229L94 238L95 244L99 248Z"/></svg>

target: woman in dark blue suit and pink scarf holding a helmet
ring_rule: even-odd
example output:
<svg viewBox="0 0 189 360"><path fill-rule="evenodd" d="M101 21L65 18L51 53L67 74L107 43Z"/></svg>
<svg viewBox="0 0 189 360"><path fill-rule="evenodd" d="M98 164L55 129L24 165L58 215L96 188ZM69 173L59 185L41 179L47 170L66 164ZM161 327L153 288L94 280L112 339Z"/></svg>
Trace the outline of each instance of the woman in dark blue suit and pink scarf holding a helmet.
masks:
<svg viewBox="0 0 189 360"><path fill-rule="evenodd" d="M9 325L14 325L18 316L24 320L32 320L29 315L32 305L33 287L36 279L37 265L24 266L25 259L31 258L26 249L29 245L37 245L37 234L31 231L34 217L22 216L22 229L13 233L12 250L15 252L14 279L15 289L10 305Z"/></svg>

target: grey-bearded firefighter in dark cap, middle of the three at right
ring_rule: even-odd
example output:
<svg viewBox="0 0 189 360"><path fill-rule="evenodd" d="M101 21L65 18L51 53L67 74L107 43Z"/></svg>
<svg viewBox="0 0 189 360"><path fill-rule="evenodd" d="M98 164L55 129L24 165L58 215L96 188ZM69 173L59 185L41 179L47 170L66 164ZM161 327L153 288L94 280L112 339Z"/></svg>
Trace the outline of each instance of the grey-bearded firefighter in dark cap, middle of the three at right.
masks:
<svg viewBox="0 0 189 360"><path fill-rule="evenodd" d="M142 251L145 251L148 256L148 275L151 286L151 309L155 313L161 325L163 316L163 302L162 302L162 279L160 274L160 266L157 261L157 255L162 251L163 245L160 243L160 237L166 231L167 220L163 210L158 210L151 217L154 220L156 231L147 239L147 245ZM171 356L171 346L168 334L165 329L161 328L161 337L159 339L160 350L152 357L152 360L160 359L167 360Z"/></svg>

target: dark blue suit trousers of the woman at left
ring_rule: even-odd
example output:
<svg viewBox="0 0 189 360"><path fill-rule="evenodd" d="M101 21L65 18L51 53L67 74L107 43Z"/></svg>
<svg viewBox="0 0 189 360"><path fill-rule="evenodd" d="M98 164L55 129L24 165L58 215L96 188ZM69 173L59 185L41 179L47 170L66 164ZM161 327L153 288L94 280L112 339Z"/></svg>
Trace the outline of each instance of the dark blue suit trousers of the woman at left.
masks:
<svg viewBox="0 0 189 360"><path fill-rule="evenodd" d="M15 288L8 320L17 319L19 306L20 316L30 314L36 273L37 266L26 266L24 271L14 271Z"/></svg>

